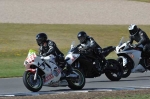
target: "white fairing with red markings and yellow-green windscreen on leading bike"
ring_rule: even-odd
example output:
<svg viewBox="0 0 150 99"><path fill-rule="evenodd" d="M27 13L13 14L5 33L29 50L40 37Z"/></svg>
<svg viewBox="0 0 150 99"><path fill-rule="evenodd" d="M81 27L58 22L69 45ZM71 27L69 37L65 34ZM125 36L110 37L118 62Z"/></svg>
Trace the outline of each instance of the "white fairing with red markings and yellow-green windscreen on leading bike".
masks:
<svg viewBox="0 0 150 99"><path fill-rule="evenodd" d="M53 55L40 57L36 56L33 50L29 51L28 57L26 58L24 65L29 70L31 65L34 65L44 72L44 86L59 86L59 80L61 77L61 69L58 68L54 61Z"/></svg>

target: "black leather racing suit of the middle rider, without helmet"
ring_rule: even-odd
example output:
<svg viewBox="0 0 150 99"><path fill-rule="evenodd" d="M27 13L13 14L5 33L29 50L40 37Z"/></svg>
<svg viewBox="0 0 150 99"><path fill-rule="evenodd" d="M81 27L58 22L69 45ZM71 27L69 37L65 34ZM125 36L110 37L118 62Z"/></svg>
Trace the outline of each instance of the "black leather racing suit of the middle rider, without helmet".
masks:
<svg viewBox="0 0 150 99"><path fill-rule="evenodd" d="M88 36L80 47L82 48L82 50L86 50L88 54L92 53L93 51L101 59L101 61L103 61L103 65L106 63L106 59L102 54L102 48L95 42L92 37Z"/></svg>

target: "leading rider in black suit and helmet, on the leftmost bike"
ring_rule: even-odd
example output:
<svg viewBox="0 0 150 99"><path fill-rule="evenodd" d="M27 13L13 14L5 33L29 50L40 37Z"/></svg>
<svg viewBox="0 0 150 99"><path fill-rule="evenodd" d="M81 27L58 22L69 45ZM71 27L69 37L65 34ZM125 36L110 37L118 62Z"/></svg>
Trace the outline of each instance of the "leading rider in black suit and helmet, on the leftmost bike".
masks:
<svg viewBox="0 0 150 99"><path fill-rule="evenodd" d="M68 66L67 62L64 60L64 54L58 49L56 43L52 40L47 39L47 35L45 33L39 33L36 35L36 42L40 46L39 47L39 55L40 56L55 56L55 62L57 65L61 65L64 73L71 72L71 66ZM65 67L64 67L65 66ZM67 74L67 75L68 75Z"/></svg>

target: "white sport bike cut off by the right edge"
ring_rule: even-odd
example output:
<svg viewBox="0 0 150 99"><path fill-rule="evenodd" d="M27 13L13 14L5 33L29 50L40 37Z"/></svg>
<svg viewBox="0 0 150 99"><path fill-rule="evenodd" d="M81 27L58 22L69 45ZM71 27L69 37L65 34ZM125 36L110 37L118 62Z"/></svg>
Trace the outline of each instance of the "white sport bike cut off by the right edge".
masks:
<svg viewBox="0 0 150 99"><path fill-rule="evenodd" d="M143 45L134 48L128 39L122 37L115 52L118 55L118 62L123 66L123 78L131 73L143 73L150 70L150 54L144 55Z"/></svg>

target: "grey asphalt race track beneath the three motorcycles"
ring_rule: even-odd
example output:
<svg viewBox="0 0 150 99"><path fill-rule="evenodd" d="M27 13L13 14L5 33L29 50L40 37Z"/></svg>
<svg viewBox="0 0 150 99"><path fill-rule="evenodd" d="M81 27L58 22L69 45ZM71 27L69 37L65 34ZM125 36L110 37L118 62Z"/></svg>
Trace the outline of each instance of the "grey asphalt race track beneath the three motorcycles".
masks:
<svg viewBox="0 0 150 99"><path fill-rule="evenodd" d="M150 72L134 73L120 81L110 81L103 74L101 77L86 79L82 90L74 91L68 87L43 87L39 92L31 92L23 84L22 78L0 79L0 96L24 96L40 94L56 94L64 92L135 90L150 88Z"/></svg>

